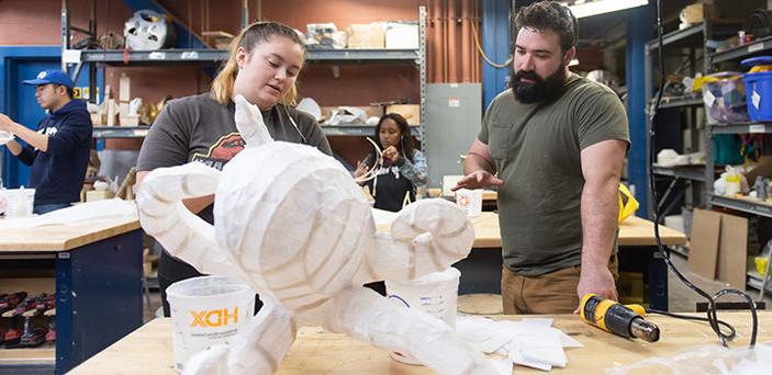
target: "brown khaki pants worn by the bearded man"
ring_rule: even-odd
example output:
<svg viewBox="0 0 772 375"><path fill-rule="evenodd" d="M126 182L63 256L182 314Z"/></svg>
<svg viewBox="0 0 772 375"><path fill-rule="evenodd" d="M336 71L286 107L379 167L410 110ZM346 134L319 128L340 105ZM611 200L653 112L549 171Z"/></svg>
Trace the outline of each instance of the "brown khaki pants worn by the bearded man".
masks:
<svg viewBox="0 0 772 375"><path fill-rule="evenodd" d="M616 254L608 261L614 281L619 279ZM538 276L524 276L502 266L501 296L504 314L572 314L579 307L579 265Z"/></svg>

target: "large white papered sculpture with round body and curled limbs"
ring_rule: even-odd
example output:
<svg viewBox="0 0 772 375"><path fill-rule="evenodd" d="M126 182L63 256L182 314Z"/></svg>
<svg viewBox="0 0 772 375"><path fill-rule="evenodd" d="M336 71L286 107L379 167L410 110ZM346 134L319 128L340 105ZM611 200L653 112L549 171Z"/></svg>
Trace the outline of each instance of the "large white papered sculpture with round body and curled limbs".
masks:
<svg viewBox="0 0 772 375"><path fill-rule="evenodd" d="M361 286L411 281L467 257L474 229L463 213L423 200L399 213L389 235L376 234L343 166L313 147L273 141L257 106L235 102L246 148L222 172L198 162L157 169L137 194L143 228L169 252L202 273L243 280L265 302L236 340L197 354L186 373L272 373L298 325L407 352L440 374L495 372L441 320ZM181 203L209 194L214 227Z"/></svg>

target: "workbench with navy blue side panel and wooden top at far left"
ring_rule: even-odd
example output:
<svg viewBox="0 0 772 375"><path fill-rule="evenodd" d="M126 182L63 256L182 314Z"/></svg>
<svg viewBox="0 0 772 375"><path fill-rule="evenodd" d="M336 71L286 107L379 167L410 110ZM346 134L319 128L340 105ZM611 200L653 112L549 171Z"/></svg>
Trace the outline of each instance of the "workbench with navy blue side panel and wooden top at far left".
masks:
<svg viewBox="0 0 772 375"><path fill-rule="evenodd" d="M0 228L0 293L56 293L57 310L56 348L0 349L0 373L63 374L123 338L143 321L142 280L136 217Z"/></svg>

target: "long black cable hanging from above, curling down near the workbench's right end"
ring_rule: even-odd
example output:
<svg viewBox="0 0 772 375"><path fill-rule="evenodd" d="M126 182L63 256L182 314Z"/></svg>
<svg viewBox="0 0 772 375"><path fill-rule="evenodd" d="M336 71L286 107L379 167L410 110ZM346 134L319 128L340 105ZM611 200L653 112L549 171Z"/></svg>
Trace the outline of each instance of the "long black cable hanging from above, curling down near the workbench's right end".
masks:
<svg viewBox="0 0 772 375"><path fill-rule="evenodd" d="M673 271L673 273L683 282L686 286L689 286L692 291L696 292L698 295L703 296L705 299L707 299L707 317L704 319L700 320L706 320L709 325L713 331L718 336L718 339L721 342L721 345L728 346L727 341L731 340L735 337L735 328L731 327L730 325L723 322L718 320L718 312L716 311L716 299L720 298L724 295L727 294L735 294L743 297L746 300L748 300L748 305L750 306L750 311L751 311L751 317L752 317L752 331L751 331L751 337L750 337L750 346L753 348L756 345L756 337L757 337L757 331L758 331L758 317L756 312L756 303L753 299L746 294L745 292L738 291L738 289L732 289L732 288L727 288L727 289L721 289L718 293L714 294L711 296L707 294L705 291L701 289L696 285L692 284L676 268L675 265L670 261L670 250L665 249L662 246L662 240L660 239L659 235L659 208L657 207L657 186L654 183L654 173L653 173L653 160L654 160L654 117L657 116L657 112L659 111L660 106L660 101L662 100L662 92L664 91L664 84L665 84L665 70L664 70L664 42L663 42L663 34L664 34L664 26L662 24L662 8L660 4L661 0L657 0L657 38L658 38L658 55L659 55L659 69L660 69L660 84L659 84L659 92L657 93L657 100L654 101L652 107L651 107L651 113L649 115L649 123L651 124L651 127L649 129L649 146L648 146L648 160L647 164L649 166L649 190L651 191L650 197L651 197L651 206L653 207L653 213L654 213L654 240L657 242L657 249L662 253L662 259L664 259L665 264L668 264L668 268ZM670 314L670 312L669 312ZM721 332L720 325L726 325L727 327L730 328L731 334L725 334Z"/></svg>

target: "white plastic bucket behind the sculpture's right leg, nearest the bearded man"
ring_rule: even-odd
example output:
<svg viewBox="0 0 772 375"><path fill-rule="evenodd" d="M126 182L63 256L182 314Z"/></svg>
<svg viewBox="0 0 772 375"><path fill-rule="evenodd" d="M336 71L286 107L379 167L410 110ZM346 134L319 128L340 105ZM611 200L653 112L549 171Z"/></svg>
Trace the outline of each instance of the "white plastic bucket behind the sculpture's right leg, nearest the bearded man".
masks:
<svg viewBox="0 0 772 375"><path fill-rule="evenodd" d="M458 305L458 283L461 272L450 266L443 272L435 272L409 283L387 281L388 298L407 308L428 312L456 328ZM421 364L405 353L390 353L391 357L407 364Z"/></svg>

